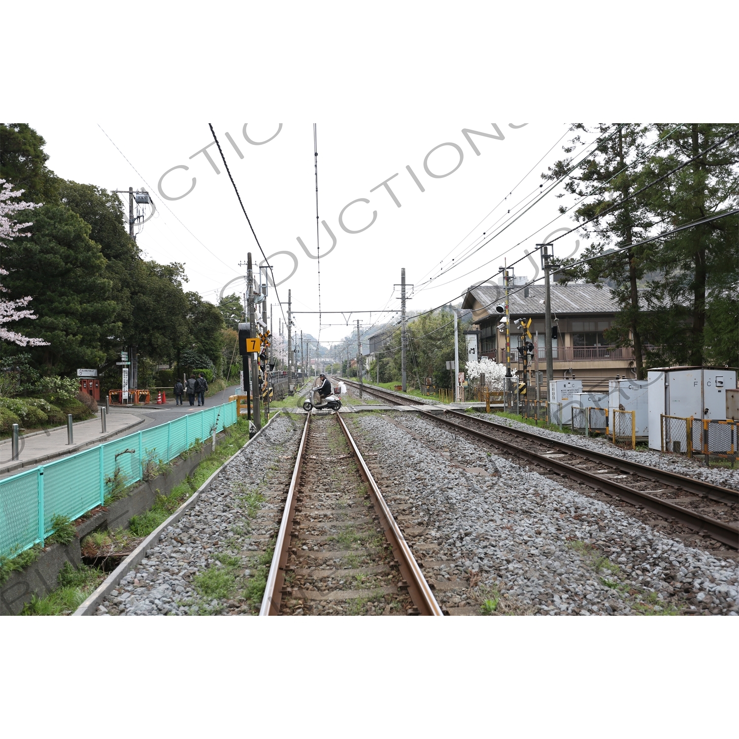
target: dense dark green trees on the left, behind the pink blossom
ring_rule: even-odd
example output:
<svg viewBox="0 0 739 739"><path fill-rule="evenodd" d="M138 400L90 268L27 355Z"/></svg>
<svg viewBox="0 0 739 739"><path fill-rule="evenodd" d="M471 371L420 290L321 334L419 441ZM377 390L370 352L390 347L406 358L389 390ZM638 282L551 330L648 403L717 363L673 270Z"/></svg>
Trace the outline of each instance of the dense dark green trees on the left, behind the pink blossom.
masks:
<svg viewBox="0 0 739 739"><path fill-rule="evenodd" d="M118 196L56 177L44 145L30 126L0 124L2 177L26 190L24 200L44 203L28 218L31 235L2 246L5 297L32 296L38 319L18 321L18 331L48 342L2 342L0 364L13 372L0 394L37 394L41 378L73 376L78 367L97 367L104 392L120 386L115 362L129 347L138 353L139 386L157 384L161 363L174 365L177 375L207 367L219 376L235 296L225 299L224 311L184 289L183 265L143 259ZM180 367L183 352L197 362Z"/></svg>

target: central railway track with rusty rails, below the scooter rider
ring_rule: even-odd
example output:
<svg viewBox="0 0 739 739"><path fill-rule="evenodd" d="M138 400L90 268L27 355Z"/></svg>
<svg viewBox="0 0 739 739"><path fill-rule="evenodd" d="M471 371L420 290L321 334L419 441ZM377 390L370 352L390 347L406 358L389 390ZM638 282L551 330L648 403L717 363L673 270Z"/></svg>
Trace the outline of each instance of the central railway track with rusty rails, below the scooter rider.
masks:
<svg viewBox="0 0 739 739"><path fill-rule="evenodd" d="M309 414L260 616L441 616L338 414Z"/></svg>

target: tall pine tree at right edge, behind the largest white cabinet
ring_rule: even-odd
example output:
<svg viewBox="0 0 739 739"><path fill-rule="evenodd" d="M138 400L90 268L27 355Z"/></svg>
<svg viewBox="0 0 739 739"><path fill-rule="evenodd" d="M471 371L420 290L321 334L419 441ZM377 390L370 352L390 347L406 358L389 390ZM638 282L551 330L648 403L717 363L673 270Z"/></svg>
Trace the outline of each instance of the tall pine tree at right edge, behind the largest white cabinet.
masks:
<svg viewBox="0 0 739 739"><path fill-rule="evenodd" d="M649 188L650 209L672 229L737 208L739 126L689 123L673 128L653 126L664 140L644 168L644 181L693 161ZM648 293L658 316L661 361L739 364L738 239L739 219L734 215L661 242L656 266L664 277L650 282Z"/></svg>

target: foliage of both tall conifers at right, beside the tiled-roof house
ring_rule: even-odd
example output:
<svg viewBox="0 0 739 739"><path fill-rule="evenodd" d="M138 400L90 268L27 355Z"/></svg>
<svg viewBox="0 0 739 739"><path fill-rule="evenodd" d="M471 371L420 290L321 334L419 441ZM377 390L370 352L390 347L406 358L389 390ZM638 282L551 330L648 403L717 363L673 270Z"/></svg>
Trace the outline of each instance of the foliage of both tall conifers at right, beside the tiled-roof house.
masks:
<svg viewBox="0 0 739 739"><path fill-rule="evenodd" d="M579 234L596 238L576 259L603 256L566 276L613 290L621 311L607 338L634 348L639 377L664 365L739 366L737 214L608 254L737 208L739 125L607 124L596 132L606 135L595 156L571 172L565 189L588 198L573 217L593 219ZM566 157L543 176L570 167Z"/></svg>

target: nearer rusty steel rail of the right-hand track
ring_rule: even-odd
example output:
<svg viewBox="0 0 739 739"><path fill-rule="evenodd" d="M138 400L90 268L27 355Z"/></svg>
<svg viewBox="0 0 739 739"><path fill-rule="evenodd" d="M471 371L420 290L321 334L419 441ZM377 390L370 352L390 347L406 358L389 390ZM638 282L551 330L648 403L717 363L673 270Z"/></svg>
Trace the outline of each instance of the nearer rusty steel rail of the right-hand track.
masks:
<svg viewBox="0 0 739 739"><path fill-rule="evenodd" d="M578 480L581 483L585 483L585 485L594 488L596 491L605 492L614 497L619 497L621 500L625 500L627 503L631 503L637 507L647 508L647 510L652 511L667 520L677 520L684 523L689 528L699 531L701 534L708 534L710 537L716 539L722 544L739 549L739 531L723 521L698 513L697 511L689 511L687 508L675 505L675 503L672 503L670 500L662 500L661 498L650 495L649 493L629 488L625 485L621 485L621 483L608 480L607 478L599 477L599 475L593 472L579 469L578 467L574 467L558 459L553 459L549 454L541 454L529 449L523 449L516 443L488 435L478 431L477 429L470 429L468 426L462 426L456 421L449 420L449 418L441 418L440 416L433 415L431 413L428 415L429 418L434 418L441 423L446 423L448 426L454 426L454 428L467 432L479 439L488 441L489 443L494 444L494 446L503 446L505 449L511 450L511 452L514 452L520 457L525 457L533 462L557 469L561 471L562 474L565 474L565 476L570 477L573 480ZM510 431L510 429L505 429L505 431ZM611 457L611 459L613 459L613 457ZM652 468L648 469L653 471Z"/></svg>

